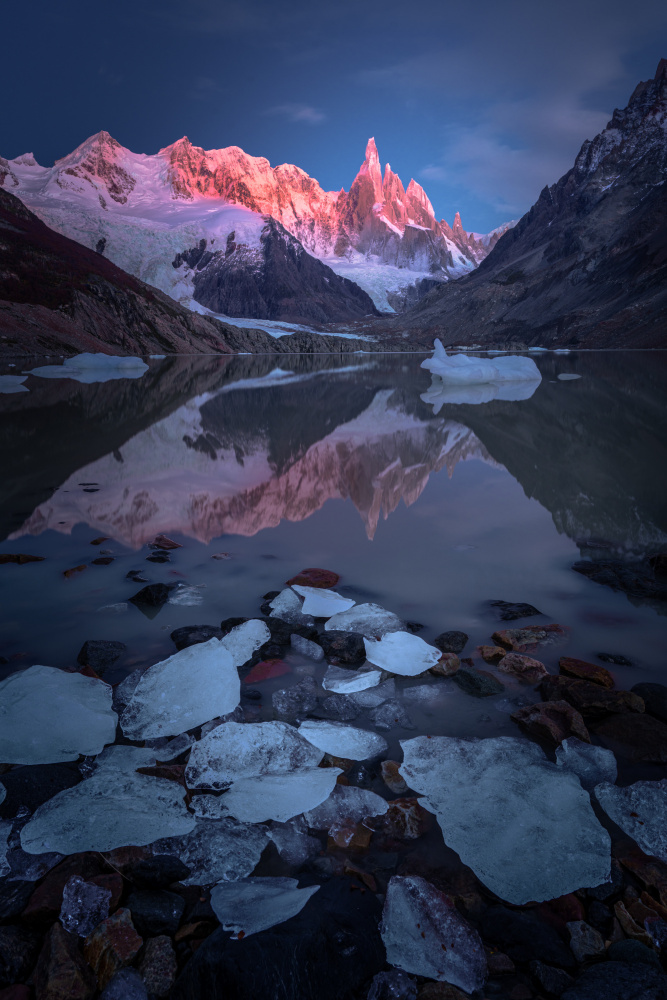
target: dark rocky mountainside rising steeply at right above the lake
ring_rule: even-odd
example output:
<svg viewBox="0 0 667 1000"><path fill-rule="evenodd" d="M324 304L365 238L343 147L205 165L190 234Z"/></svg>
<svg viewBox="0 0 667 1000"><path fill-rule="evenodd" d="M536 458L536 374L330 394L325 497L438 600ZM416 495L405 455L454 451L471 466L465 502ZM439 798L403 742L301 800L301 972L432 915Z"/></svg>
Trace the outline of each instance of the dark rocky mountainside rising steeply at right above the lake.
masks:
<svg viewBox="0 0 667 1000"><path fill-rule="evenodd" d="M667 345L667 60L479 269L402 326L445 344Z"/></svg>

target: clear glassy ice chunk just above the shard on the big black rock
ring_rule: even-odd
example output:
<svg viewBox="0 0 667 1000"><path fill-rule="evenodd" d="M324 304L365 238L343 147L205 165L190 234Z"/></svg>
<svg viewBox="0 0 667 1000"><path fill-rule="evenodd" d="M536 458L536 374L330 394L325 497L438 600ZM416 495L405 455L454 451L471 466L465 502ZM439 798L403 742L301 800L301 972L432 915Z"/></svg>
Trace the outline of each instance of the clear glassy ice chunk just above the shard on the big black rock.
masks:
<svg viewBox="0 0 667 1000"><path fill-rule="evenodd" d="M171 782L173 784L173 782ZM192 833L166 837L152 845L153 854L172 854L190 869L184 885L212 885L225 879L235 882L252 874L269 842L261 826L238 823L231 817L197 820Z"/></svg>

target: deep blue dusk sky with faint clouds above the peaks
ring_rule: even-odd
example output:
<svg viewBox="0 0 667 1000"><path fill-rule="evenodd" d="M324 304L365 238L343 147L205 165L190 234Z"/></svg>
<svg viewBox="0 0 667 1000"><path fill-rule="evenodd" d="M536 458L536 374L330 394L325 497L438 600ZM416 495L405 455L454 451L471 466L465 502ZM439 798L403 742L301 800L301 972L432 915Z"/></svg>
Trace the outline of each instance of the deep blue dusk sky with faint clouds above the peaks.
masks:
<svg viewBox="0 0 667 1000"><path fill-rule="evenodd" d="M653 75L664 0L69 0L3 13L0 154L188 135L349 188L374 135L436 215L516 218Z"/></svg>

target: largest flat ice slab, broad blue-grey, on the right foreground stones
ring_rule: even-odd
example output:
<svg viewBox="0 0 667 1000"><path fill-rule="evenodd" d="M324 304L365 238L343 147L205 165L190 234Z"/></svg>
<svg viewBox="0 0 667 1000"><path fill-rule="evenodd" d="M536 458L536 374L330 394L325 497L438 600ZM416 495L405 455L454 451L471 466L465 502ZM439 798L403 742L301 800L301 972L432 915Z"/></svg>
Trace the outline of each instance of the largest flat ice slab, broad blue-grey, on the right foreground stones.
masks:
<svg viewBox="0 0 667 1000"><path fill-rule="evenodd" d="M609 834L588 793L536 744L418 736L401 745L401 776L501 899L520 906L608 881Z"/></svg>

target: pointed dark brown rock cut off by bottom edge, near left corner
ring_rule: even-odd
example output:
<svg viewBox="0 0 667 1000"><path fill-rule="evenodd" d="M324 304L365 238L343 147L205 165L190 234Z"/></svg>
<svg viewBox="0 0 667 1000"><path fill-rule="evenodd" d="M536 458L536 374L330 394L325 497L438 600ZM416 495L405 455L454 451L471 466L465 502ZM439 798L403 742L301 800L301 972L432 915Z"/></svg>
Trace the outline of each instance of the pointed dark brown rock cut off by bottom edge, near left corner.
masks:
<svg viewBox="0 0 667 1000"><path fill-rule="evenodd" d="M95 976L79 952L76 935L58 922L46 935L34 981L39 1000L90 1000L95 995Z"/></svg>

